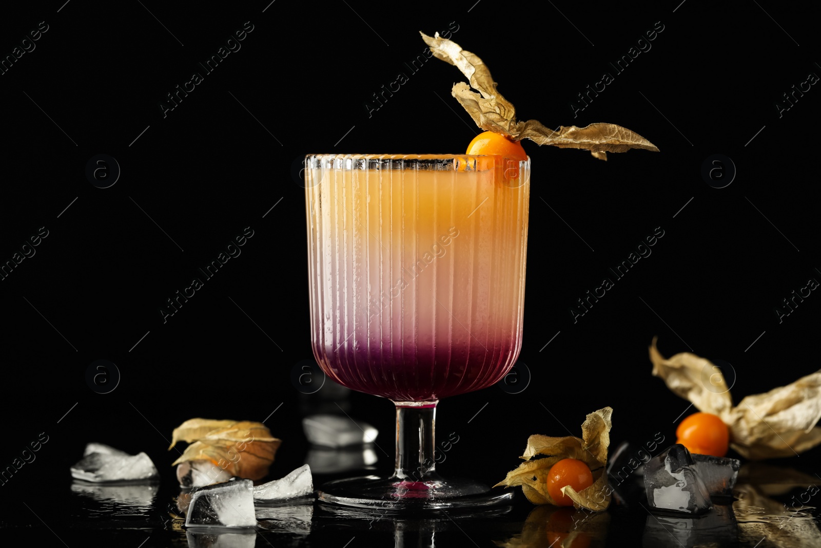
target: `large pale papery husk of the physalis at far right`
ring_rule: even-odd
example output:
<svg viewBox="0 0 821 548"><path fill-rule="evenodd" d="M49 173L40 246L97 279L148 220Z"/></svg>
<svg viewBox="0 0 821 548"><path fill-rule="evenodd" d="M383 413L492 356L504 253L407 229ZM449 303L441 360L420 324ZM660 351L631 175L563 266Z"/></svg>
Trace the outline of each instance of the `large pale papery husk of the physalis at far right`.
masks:
<svg viewBox="0 0 821 548"><path fill-rule="evenodd" d="M732 405L730 389L718 366L690 352L665 359L649 348L653 375L701 412L721 417L730 428L730 446L751 460L791 457L821 444L821 371L766 394Z"/></svg>

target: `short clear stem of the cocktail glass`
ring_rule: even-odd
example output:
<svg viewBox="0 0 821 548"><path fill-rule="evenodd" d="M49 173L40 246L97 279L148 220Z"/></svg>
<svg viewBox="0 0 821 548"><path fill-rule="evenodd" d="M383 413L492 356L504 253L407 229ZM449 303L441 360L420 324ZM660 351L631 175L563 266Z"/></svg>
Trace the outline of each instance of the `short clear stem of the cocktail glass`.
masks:
<svg viewBox="0 0 821 548"><path fill-rule="evenodd" d="M438 402L394 403L397 406L397 461L393 478L401 481L438 479L433 455Z"/></svg>

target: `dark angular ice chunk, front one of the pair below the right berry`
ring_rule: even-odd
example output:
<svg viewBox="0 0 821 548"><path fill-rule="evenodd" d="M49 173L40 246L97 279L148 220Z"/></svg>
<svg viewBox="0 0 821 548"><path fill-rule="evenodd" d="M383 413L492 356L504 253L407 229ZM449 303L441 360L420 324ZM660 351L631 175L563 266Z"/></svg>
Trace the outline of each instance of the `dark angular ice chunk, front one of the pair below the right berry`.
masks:
<svg viewBox="0 0 821 548"><path fill-rule="evenodd" d="M698 515L713 508L690 451L675 444L644 465L644 489L651 507Z"/></svg>

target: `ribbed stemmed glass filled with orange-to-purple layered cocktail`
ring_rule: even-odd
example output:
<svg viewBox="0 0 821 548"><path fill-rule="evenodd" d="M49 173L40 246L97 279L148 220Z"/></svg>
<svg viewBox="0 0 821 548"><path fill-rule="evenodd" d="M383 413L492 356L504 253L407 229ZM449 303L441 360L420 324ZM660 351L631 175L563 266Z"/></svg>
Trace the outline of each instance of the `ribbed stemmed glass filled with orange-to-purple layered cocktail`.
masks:
<svg viewBox="0 0 821 548"><path fill-rule="evenodd" d="M519 355L530 159L328 155L306 165L314 357L338 383L397 406L393 477L337 482L320 498L459 505L487 487L436 474L435 407L498 382Z"/></svg>

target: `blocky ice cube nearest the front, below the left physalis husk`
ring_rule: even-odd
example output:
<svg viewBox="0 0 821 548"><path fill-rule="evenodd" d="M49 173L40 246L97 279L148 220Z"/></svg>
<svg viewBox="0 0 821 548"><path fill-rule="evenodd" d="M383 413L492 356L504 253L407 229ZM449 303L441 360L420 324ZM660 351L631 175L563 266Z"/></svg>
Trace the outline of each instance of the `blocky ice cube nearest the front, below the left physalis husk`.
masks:
<svg viewBox="0 0 821 548"><path fill-rule="evenodd" d="M254 482L233 480L201 487L191 495L186 527L254 527Z"/></svg>

